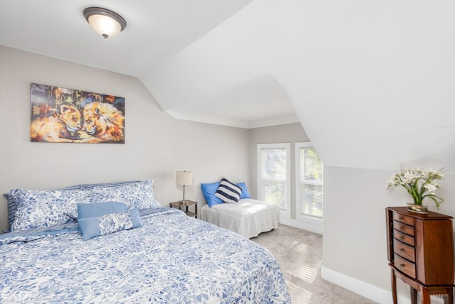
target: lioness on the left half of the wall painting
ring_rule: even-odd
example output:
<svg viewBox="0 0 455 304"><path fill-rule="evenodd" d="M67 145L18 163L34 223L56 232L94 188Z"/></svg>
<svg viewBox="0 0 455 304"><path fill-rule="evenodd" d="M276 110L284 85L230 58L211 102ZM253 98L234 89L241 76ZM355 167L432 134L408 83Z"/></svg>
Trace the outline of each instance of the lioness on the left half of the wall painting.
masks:
<svg viewBox="0 0 455 304"><path fill-rule="evenodd" d="M73 142L82 128L82 115L73 106L64 104L59 113L40 116L31 121L31 141Z"/></svg>

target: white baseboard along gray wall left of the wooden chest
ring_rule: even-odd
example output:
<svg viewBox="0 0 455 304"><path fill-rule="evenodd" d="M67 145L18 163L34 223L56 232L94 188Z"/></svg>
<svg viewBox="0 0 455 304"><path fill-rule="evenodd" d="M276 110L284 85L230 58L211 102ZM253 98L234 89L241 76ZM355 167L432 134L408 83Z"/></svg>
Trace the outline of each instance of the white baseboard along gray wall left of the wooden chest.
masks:
<svg viewBox="0 0 455 304"><path fill-rule="evenodd" d="M333 271L324 266L321 267L321 278L338 286L341 286L348 291L363 295L365 298L369 298L380 304L392 304L392 293L385 291L376 286L370 285L356 278L351 278L343 273ZM398 302L400 304L410 304L411 300L398 296Z"/></svg>

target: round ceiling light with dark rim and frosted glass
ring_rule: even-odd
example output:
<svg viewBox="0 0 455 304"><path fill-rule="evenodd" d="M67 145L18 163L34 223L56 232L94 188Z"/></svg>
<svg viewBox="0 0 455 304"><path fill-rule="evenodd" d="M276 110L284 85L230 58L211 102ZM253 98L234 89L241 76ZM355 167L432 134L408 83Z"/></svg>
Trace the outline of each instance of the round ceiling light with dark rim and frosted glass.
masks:
<svg viewBox="0 0 455 304"><path fill-rule="evenodd" d="M115 36L127 27L127 21L122 16L101 7L87 7L84 17L93 30L104 38Z"/></svg>

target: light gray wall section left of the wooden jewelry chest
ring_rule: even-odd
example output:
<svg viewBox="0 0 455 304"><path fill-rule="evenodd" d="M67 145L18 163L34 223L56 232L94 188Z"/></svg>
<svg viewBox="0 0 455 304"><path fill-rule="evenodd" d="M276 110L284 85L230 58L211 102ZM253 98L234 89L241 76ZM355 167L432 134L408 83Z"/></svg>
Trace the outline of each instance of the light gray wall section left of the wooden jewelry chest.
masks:
<svg viewBox="0 0 455 304"><path fill-rule="evenodd" d="M324 167L323 265L383 289L390 286L385 207L405 205L387 195L391 174Z"/></svg>

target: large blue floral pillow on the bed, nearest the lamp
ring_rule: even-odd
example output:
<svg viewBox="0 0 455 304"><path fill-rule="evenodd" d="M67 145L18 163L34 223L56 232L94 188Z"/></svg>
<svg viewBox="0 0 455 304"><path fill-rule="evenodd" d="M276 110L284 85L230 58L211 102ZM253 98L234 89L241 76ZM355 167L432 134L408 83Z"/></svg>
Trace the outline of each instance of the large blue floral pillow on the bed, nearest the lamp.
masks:
<svg viewBox="0 0 455 304"><path fill-rule="evenodd" d="M94 187L90 202L123 202L128 209L138 210L161 207L155 197L154 182L150 179L119 187Z"/></svg>

